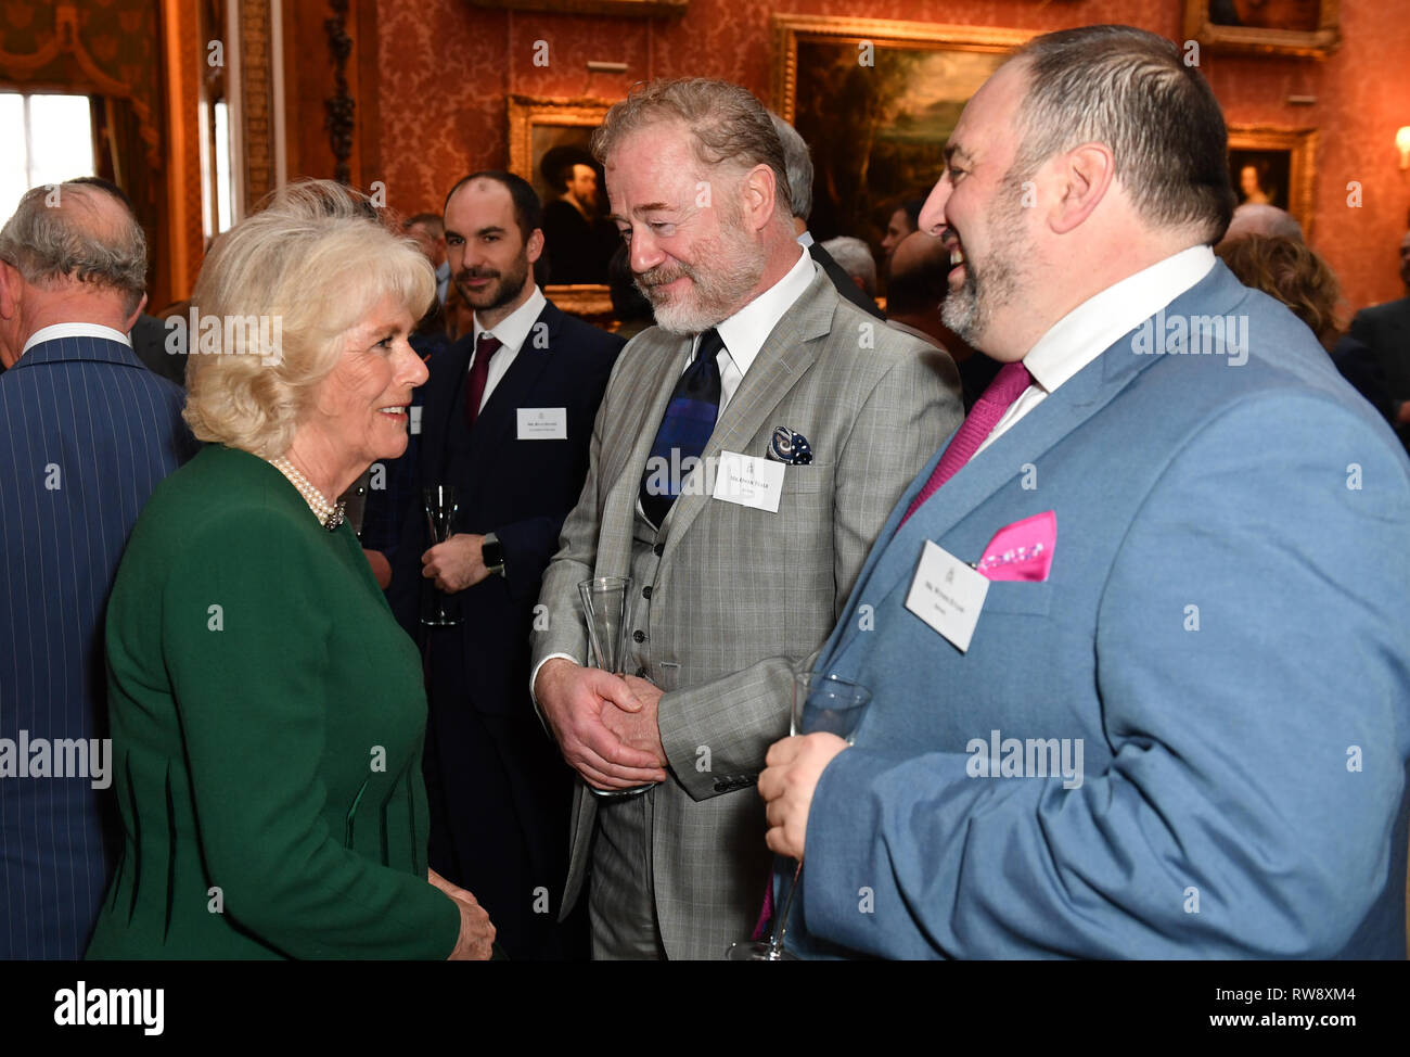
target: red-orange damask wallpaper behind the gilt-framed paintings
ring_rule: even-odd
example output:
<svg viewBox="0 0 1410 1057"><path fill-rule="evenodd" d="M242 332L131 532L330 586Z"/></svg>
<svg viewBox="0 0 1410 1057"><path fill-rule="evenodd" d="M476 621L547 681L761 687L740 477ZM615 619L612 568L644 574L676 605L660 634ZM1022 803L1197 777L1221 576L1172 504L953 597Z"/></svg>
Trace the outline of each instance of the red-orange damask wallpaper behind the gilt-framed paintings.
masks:
<svg viewBox="0 0 1410 1057"><path fill-rule="evenodd" d="M771 102L774 11L1038 31L1120 21L1184 37L1184 0L689 0L688 13L671 20L378 0L379 155L389 205L439 207L457 176L506 165L508 93L616 99L640 79L706 75ZM1342 3L1341 11L1345 42L1325 61L1204 49L1200 65L1231 124L1320 128L1311 243L1354 309L1403 294L1396 246L1410 212L1410 174L1399 168L1394 133L1410 124L1410 0ZM547 65L537 41L547 42ZM627 72L589 73L589 59L625 62ZM1289 96L1316 103L1290 104ZM1351 182L1361 186L1359 206L1348 205Z"/></svg>

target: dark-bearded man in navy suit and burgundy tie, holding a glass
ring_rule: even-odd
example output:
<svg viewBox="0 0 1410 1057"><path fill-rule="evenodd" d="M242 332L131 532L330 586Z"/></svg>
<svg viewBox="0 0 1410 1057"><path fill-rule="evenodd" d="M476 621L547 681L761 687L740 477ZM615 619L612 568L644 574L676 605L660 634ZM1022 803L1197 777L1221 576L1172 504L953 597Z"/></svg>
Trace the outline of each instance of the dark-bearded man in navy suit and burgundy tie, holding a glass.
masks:
<svg viewBox="0 0 1410 1057"><path fill-rule="evenodd" d="M541 209L519 176L460 181L446 243L475 326L431 356L419 477L454 485L460 514L455 535L430 546L417 490L392 579L398 617L429 653L430 859L475 893L510 958L585 955L581 922L557 923L572 782L529 697L529 634L625 343L534 284ZM451 596L458 625L417 627L423 580Z"/></svg>

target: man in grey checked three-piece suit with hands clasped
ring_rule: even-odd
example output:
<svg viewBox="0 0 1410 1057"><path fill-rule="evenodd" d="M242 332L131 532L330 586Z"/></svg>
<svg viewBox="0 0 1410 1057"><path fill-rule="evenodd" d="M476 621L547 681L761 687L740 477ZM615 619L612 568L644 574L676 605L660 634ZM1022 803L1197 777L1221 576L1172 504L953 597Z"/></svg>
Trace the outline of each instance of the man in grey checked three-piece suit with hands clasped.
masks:
<svg viewBox="0 0 1410 1057"><path fill-rule="evenodd" d="M746 90L649 86L594 150L658 326L612 373L540 596L536 700L582 778L563 906L591 865L595 957L719 958L767 886L752 786L788 730L792 666L959 425L959 384L943 353L840 299L801 250L783 145ZM771 501L712 488L730 480L722 453L773 480ZM634 675L582 666L591 576L634 580Z"/></svg>

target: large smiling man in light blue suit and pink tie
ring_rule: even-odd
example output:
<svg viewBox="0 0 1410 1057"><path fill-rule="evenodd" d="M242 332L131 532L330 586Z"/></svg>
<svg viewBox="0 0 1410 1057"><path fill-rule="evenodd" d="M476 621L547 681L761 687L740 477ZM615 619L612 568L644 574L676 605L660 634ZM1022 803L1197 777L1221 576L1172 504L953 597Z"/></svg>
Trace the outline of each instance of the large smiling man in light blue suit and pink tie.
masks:
<svg viewBox="0 0 1410 1057"><path fill-rule="evenodd" d="M854 747L770 749L788 947L1403 958L1410 464L1210 253L1208 86L1144 31L1049 34L946 158L945 322L1005 367L816 663L873 693Z"/></svg>

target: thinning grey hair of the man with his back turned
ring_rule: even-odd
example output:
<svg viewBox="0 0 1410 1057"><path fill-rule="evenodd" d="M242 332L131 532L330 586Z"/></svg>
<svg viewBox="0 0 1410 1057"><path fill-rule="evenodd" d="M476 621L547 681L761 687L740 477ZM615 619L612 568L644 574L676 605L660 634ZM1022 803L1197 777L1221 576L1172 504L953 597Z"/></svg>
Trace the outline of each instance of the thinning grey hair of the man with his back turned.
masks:
<svg viewBox="0 0 1410 1057"><path fill-rule="evenodd" d="M116 226L96 213L93 195L107 195L121 206ZM73 281L120 291L128 315L147 292L142 226L121 199L93 183L69 181L27 191L0 229L0 261L35 286Z"/></svg>

